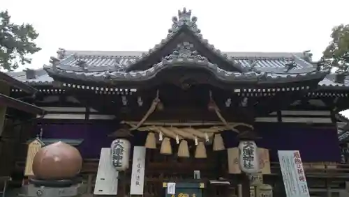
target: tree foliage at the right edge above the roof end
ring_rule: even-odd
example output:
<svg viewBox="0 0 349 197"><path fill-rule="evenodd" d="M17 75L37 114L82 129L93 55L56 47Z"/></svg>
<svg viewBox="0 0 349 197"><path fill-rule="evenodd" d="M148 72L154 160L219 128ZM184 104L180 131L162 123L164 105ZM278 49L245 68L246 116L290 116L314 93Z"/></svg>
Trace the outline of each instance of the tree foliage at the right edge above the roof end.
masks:
<svg viewBox="0 0 349 197"><path fill-rule="evenodd" d="M349 64L349 24L335 26L331 33L331 42L323 52L323 58L339 68Z"/></svg>

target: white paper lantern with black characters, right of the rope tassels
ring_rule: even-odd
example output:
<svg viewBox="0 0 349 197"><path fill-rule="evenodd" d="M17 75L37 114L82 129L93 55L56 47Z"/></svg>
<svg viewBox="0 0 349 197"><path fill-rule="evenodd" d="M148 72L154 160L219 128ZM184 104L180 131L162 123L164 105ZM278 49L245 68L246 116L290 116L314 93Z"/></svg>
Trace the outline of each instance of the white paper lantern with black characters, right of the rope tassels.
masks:
<svg viewBox="0 0 349 197"><path fill-rule="evenodd" d="M257 145L254 141L240 141L239 166L244 173L260 171Z"/></svg>

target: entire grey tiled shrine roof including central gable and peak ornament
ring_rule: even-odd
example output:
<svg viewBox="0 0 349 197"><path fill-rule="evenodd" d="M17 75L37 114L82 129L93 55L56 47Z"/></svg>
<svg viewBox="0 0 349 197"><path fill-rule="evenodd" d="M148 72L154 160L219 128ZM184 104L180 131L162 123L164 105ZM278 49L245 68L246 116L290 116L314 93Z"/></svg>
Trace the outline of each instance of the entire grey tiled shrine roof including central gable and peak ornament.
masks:
<svg viewBox="0 0 349 197"><path fill-rule="evenodd" d="M149 52L60 49L58 57L51 58L52 66L45 66L45 70L50 76L82 81L143 81L151 79L159 70L169 66L186 65L200 66L224 81L253 81L260 84L311 78L320 80L328 73L326 69L316 70L311 63L305 61L309 58L307 52L221 52L202 38L196 21L196 17L191 17L191 10L179 10L178 17L172 18L168 36L149 49ZM13 75L31 84L50 84L53 79L44 73L45 70L38 70L35 79L27 80L25 73ZM320 85L336 86L331 79L321 81Z"/></svg>

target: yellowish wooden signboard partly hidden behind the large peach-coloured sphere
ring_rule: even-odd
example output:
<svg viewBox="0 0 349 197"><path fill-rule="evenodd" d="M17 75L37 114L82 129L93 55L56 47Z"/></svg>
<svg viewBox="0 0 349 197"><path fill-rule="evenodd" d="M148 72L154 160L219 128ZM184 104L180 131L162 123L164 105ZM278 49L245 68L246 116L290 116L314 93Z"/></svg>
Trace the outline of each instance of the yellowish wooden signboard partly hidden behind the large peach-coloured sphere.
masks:
<svg viewBox="0 0 349 197"><path fill-rule="evenodd" d="M36 152L43 146L43 142L40 139L34 139L29 143L27 150L27 160L25 162L24 176L33 176L33 160Z"/></svg>

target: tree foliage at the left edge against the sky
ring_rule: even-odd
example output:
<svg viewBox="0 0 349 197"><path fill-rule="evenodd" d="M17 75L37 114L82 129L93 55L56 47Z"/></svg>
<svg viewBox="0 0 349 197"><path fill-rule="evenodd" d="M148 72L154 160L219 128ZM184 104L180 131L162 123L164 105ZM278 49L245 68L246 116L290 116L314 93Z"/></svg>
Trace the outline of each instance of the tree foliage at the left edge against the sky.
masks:
<svg viewBox="0 0 349 197"><path fill-rule="evenodd" d="M0 13L0 68L15 70L19 64L31 63L30 54L40 51L34 40L38 38L31 24L13 24L8 11Z"/></svg>

